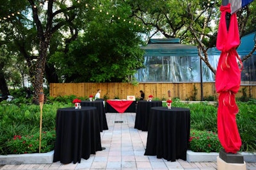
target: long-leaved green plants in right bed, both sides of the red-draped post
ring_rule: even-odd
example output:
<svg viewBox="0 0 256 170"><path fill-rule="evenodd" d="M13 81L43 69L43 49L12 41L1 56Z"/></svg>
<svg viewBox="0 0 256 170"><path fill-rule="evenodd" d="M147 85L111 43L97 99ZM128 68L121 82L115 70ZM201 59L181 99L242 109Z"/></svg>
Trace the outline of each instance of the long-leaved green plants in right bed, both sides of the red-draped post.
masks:
<svg viewBox="0 0 256 170"><path fill-rule="evenodd" d="M242 140L240 151L256 151L256 100L249 102L237 102L239 113L236 116L237 128ZM207 102L200 104L188 104L173 100L172 107L184 107L190 109L191 129L201 131L218 132L217 130L217 105L210 105Z"/></svg>

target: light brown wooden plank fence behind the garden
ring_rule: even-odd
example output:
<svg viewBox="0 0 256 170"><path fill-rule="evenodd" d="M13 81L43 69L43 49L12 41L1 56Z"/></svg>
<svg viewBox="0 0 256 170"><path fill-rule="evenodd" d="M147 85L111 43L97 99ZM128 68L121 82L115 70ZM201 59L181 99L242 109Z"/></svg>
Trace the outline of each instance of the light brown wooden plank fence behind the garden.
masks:
<svg viewBox="0 0 256 170"><path fill-rule="evenodd" d="M214 82L204 82L203 97L215 97L216 89ZM201 100L201 84L198 83L140 83L134 86L125 82L81 82L81 83L51 83L50 96L69 96L89 97L95 95L97 89L101 89L100 98L120 98L126 99L127 95L140 97L140 90L145 92L145 99L148 95L154 98L165 100L168 98L168 90L171 91L172 98L178 97L180 100ZM256 98L256 86L241 86L236 97L242 97L245 91L247 97Z"/></svg>

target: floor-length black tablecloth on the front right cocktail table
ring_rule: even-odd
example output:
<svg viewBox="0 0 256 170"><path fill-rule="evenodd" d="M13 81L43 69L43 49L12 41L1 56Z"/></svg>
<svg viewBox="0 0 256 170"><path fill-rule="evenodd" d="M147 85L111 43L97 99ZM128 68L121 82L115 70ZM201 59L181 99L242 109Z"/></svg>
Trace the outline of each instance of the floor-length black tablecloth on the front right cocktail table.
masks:
<svg viewBox="0 0 256 170"><path fill-rule="evenodd" d="M186 160L190 131L190 111L180 107L152 107L148 121L145 155Z"/></svg>

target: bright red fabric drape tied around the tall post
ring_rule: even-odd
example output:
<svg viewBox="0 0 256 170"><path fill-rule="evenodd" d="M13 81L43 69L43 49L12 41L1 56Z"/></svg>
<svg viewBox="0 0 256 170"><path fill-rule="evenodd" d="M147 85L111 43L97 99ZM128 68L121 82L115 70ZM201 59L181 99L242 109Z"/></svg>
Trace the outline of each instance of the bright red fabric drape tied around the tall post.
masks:
<svg viewBox="0 0 256 170"><path fill-rule="evenodd" d="M241 83L241 69L236 47L240 43L236 13L230 17L227 30L225 15L230 13L230 4L221 6L221 18L216 47L221 50L216 72L216 91L220 93L218 106L218 137L227 153L236 153L241 147L241 137L237 129L236 114L239 111L235 95Z"/></svg>

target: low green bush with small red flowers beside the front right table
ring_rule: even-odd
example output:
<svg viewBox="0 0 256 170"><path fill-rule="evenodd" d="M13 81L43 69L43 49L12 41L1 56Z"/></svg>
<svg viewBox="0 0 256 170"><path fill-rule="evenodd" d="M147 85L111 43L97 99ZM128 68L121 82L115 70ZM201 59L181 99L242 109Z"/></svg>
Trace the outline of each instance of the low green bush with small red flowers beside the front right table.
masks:
<svg viewBox="0 0 256 170"><path fill-rule="evenodd" d="M195 152L218 152L222 148L218 135L206 130L190 130L189 150Z"/></svg>

